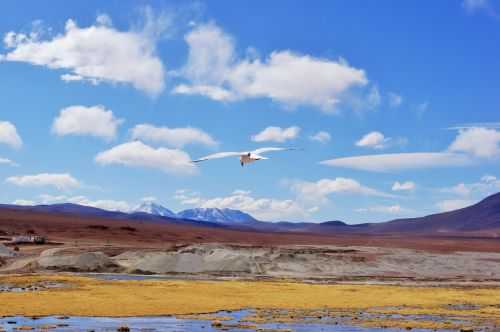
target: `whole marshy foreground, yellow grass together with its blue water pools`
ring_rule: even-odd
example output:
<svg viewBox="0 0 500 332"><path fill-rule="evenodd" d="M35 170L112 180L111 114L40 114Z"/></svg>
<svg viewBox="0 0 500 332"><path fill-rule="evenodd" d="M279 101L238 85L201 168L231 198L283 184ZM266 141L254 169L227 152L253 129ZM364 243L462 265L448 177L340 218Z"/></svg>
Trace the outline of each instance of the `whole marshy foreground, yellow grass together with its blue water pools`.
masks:
<svg viewBox="0 0 500 332"><path fill-rule="evenodd" d="M4 276L0 283L63 285L0 292L0 331L500 330L498 287L101 280L57 274Z"/></svg>

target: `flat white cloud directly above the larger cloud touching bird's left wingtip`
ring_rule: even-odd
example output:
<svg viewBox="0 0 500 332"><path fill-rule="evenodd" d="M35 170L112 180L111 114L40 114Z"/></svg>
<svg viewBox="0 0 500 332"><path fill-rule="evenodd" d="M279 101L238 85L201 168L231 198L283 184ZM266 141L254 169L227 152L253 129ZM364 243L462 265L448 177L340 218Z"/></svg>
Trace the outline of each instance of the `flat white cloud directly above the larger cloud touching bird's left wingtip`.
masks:
<svg viewBox="0 0 500 332"><path fill-rule="evenodd" d="M155 127L147 123L136 125L132 129L132 138L176 148L182 148L188 144L202 144L212 147L218 144L212 136L198 128Z"/></svg>

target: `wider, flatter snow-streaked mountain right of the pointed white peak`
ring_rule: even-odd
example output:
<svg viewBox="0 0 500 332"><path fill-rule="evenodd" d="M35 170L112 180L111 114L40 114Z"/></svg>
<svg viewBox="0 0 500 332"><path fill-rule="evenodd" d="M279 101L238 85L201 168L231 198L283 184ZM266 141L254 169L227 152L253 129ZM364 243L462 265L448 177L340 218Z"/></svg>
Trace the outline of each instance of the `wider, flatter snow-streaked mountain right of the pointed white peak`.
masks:
<svg viewBox="0 0 500 332"><path fill-rule="evenodd" d="M178 218L210 221L220 224L244 224L257 220L248 213L232 209L196 208L177 213Z"/></svg>

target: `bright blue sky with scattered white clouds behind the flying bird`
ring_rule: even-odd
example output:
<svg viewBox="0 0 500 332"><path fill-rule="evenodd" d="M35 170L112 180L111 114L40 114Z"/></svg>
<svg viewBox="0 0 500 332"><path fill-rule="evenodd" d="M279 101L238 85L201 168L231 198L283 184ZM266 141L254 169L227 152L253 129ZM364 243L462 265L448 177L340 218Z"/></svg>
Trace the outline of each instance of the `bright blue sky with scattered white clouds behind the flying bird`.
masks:
<svg viewBox="0 0 500 332"><path fill-rule="evenodd" d="M4 1L0 201L384 221L500 191L500 3ZM240 167L223 151L298 147Z"/></svg>

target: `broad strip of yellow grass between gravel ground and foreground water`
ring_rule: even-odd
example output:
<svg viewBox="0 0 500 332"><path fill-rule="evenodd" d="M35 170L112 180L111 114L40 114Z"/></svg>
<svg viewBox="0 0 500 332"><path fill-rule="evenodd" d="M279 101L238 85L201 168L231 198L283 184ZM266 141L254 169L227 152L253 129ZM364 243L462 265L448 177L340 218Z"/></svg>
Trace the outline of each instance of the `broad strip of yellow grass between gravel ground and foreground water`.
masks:
<svg viewBox="0 0 500 332"><path fill-rule="evenodd" d="M262 281L104 281L70 275L0 277L0 283L63 282L71 287L0 293L0 315L149 316L213 313L219 310L339 309L399 307L419 314L500 317L500 289L424 288L384 285L312 285ZM447 304L477 304L451 310ZM412 309L413 308L413 309ZM417 308L417 309L415 309ZM398 310L392 310L398 311Z"/></svg>

